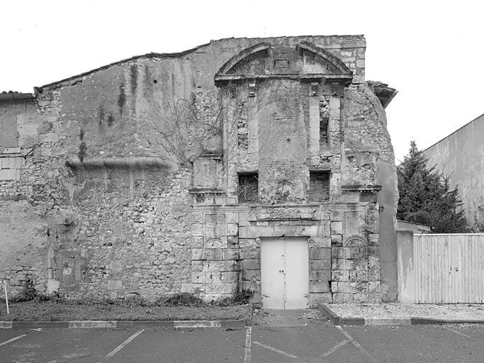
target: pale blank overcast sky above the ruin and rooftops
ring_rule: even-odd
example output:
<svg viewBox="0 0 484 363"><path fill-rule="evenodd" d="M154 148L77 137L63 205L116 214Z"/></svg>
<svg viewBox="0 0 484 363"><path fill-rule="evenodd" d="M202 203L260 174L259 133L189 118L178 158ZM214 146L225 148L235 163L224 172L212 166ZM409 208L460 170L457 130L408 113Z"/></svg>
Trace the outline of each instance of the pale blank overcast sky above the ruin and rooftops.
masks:
<svg viewBox="0 0 484 363"><path fill-rule="evenodd" d="M366 37L366 79L399 93L386 109L397 163L484 113L480 1L2 1L0 91L147 52L229 37Z"/></svg>

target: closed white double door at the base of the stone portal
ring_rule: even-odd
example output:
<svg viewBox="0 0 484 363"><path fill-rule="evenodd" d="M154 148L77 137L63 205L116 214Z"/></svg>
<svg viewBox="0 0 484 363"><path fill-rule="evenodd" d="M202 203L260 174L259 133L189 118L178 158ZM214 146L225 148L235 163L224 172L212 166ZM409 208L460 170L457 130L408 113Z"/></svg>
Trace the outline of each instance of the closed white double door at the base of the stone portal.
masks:
<svg viewBox="0 0 484 363"><path fill-rule="evenodd" d="M267 238L261 242L263 308L308 307L309 250L305 238Z"/></svg>

